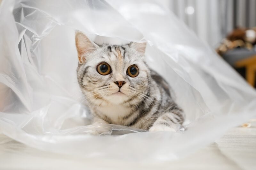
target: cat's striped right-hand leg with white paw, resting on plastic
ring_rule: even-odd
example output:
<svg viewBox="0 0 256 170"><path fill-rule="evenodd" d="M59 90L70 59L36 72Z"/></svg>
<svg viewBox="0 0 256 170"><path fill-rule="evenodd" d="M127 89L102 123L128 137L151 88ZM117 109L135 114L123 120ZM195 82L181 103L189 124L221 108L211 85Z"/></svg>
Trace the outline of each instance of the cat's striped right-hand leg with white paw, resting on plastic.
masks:
<svg viewBox="0 0 256 170"><path fill-rule="evenodd" d="M156 122L149 128L149 131L173 131L180 129L184 121L182 111L165 112L156 119Z"/></svg>

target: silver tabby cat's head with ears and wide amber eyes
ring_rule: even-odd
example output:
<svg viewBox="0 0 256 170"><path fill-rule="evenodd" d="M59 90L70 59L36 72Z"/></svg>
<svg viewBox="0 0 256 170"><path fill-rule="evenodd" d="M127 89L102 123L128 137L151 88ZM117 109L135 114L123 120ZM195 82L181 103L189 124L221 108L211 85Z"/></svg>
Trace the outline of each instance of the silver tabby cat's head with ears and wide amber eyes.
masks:
<svg viewBox="0 0 256 170"><path fill-rule="evenodd" d="M76 32L79 65L77 78L91 103L136 103L147 93L150 71L145 62L146 43L97 45Z"/></svg>

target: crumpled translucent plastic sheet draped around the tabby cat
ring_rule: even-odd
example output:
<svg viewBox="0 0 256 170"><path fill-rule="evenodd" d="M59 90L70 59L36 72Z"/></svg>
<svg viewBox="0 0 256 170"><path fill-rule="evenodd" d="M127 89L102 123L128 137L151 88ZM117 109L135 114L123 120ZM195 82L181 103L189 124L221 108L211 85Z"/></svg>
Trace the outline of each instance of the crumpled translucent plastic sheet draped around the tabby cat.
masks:
<svg viewBox="0 0 256 170"><path fill-rule="evenodd" d="M194 152L256 117L254 89L161 3L3 1L0 132L80 158L155 163ZM75 30L98 43L148 42L148 64L171 84L187 116L186 130L152 133L90 125L76 81ZM108 126L111 131L101 136L89 134Z"/></svg>

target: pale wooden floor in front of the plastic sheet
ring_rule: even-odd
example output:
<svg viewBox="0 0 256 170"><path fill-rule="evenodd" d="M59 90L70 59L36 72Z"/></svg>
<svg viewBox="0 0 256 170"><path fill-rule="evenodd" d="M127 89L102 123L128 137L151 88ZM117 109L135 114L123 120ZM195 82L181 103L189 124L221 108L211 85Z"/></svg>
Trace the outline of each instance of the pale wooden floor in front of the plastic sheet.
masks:
<svg viewBox="0 0 256 170"><path fill-rule="evenodd" d="M177 161L158 165L132 162L92 162L40 151L0 134L0 169L207 169L255 170L256 126L236 127L222 138L196 153Z"/></svg>

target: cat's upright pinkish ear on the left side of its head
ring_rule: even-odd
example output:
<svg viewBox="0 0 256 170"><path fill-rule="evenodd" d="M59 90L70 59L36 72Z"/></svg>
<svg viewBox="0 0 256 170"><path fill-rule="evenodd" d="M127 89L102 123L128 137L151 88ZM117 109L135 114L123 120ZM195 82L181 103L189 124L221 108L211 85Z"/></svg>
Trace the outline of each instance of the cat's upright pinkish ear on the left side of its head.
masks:
<svg viewBox="0 0 256 170"><path fill-rule="evenodd" d="M76 50L80 64L85 62L86 54L92 53L97 47L99 46L92 42L83 32L76 31Z"/></svg>

